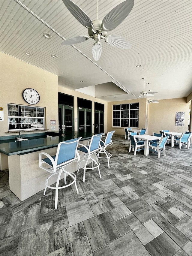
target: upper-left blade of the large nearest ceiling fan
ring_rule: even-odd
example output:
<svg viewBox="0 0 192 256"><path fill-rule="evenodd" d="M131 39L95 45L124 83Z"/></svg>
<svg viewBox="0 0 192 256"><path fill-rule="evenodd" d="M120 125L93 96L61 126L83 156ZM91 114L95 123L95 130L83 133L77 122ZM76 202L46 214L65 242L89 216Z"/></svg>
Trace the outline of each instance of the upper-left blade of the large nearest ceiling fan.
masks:
<svg viewBox="0 0 192 256"><path fill-rule="evenodd" d="M92 20L81 10L81 8L79 8L79 6L74 4L71 0L63 0L63 3L79 23L88 29L93 29L94 25Z"/></svg>

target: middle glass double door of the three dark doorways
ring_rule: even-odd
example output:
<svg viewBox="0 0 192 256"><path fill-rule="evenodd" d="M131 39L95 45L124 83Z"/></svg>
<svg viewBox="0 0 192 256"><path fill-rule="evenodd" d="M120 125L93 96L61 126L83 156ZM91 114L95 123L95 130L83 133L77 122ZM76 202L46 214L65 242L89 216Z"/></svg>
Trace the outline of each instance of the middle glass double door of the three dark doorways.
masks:
<svg viewBox="0 0 192 256"><path fill-rule="evenodd" d="M78 108L78 131L92 132L92 110Z"/></svg>

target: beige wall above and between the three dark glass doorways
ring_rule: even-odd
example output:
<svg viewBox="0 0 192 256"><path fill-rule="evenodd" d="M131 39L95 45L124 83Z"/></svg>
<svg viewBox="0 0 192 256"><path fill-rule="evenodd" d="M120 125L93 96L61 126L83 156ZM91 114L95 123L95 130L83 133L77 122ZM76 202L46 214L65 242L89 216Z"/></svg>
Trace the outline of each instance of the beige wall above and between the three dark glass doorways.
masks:
<svg viewBox="0 0 192 256"><path fill-rule="evenodd" d="M107 132L107 119L108 119L108 115L107 115L107 102L106 101L102 101L102 100L99 100L99 99L96 99L95 97L92 97L92 96L89 96L89 95L86 95L82 92L77 92L77 91L72 91L72 90L69 90L69 89L66 89L62 86L58 86L58 92L61 92L61 93L65 93L65 94L68 94L68 95L72 95L74 96L74 118L75 120L78 120L78 116L77 116L77 98L82 98L82 99L85 99L85 100L89 100L89 101L92 101L92 132L94 132L94 106L95 106L95 102L98 102L98 103L101 103L101 104L104 104L104 132ZM77 124L78 122L75 121L75 131L77 131Z"/></svg>

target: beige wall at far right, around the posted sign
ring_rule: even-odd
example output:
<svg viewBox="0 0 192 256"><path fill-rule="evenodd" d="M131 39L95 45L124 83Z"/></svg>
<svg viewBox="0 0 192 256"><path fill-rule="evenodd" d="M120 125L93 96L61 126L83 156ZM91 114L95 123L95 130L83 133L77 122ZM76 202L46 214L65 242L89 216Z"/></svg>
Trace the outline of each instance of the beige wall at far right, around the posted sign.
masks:
<svg viewBox="0 0 192 256"><path fill-rule="evenodd" d="M186 98L158 100L149 104L148 134L159 133L160 130L173 132L188 131L189 106ZM176 126L176 112L184 112L184 126Z"/></svg>

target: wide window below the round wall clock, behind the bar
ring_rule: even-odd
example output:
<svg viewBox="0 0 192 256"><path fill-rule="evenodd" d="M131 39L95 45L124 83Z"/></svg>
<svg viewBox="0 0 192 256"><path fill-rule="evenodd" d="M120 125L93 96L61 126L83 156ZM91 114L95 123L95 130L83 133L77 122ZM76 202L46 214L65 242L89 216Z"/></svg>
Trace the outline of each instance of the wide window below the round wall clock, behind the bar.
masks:
<svg viewBox="0 0 192 256"><path fill-rule="evenodd" d="M45 128L45 108L7 104L9 131Z"/></svg>

